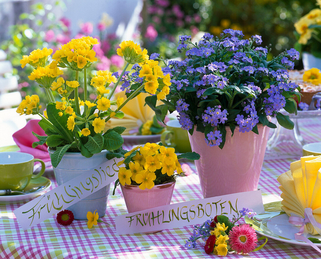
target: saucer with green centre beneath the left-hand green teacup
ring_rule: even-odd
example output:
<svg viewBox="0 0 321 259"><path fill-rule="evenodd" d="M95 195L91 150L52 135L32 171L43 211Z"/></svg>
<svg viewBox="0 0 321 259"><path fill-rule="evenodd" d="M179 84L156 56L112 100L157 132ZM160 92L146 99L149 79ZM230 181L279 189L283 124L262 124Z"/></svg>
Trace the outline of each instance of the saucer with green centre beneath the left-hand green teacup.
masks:
<svg viewBox="0 0 321 259"><path fill-rule="evenodd" d="M46 177L40 176L37 179L31 179L27 187L24 188L25 191L33 187L43 186L43 185L46 186L46 188L42 189L41 191L35 191L28 194L0 196L0 203L14 203L14 202L21 202L21 201L33 199L47 192L48 188L51 186L51 181Z"/></svg>

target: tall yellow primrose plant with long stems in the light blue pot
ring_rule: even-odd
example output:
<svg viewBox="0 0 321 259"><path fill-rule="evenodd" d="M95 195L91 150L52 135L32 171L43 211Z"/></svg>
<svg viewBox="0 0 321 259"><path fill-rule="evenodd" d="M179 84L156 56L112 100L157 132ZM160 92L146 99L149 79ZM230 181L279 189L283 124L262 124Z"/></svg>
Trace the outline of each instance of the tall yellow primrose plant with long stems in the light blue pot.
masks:
<svg viewBox="0 0 321 259"><path fill-rule="evenodd" d="M133 41L123 41L119 44L117 54L123 56L127 62L123 71L117 78L117 73L110 71L97 71L91 79L91 85L96 88L95 100L88 100L87 96L87 69L97 61L96 53L92 49L99 44L96 38L82 37L72 39L62 45L56 52L52 49L37 49L24 55L20 61L22 68L27 64L34 70L29 79L35 80L39 87L44 88L48 105L44 114L40 112L39 97L37 95L26 96L17 108L17 113L38 114L41 117L39 125L44 129L47 136L33 134L39 139L33 143L33 147L46 143L55 150L51 156L51 162L56 167L65 152L81 152L85 157L100 153L102 150L110 150L111 153L120 154L124 143L121 133L124 127L105 129L106 122L111 117L123 118L121 108L137 96L146 91L155 94L159 98L165 98L169 92L170 78L164 76L157 61L149 60L146 49L135 44ZM52 60L48 63L48 60ZM113 99L113 94L129 65L146 67L149 73L141 75L140 82L132 83L126 89L127 99ZM64 70L74 71L73 79L63 77ZM84 80L80 82L79 72L83 73ZM83 88L84 100L78 97L78 89ZM109 88L109 89L108 89ZM60 96L56 100L56 96ZM117 155L115 155L117 156ZM119 156L119 155L118 155Z"/></svg>

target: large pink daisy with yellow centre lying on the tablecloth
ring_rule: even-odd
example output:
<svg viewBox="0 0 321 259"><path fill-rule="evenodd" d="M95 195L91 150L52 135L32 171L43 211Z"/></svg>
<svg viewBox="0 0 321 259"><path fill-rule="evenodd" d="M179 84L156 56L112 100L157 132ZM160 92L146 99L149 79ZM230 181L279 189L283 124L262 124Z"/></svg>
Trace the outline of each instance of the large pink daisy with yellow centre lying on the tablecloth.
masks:
<svg viewBox="0 0 321 259"><path fill-rule="evenodd" d="M231 248L238 254L248 254L256 247L256 232L248 224L234 226L229 233L229 238Z"/></svg>

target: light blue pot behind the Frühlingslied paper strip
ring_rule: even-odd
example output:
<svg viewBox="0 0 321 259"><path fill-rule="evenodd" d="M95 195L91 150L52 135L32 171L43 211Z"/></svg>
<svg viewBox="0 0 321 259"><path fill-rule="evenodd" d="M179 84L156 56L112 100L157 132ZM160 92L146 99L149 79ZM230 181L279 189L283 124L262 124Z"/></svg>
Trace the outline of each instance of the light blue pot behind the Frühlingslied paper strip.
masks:
<svg viewBox="0 0 321 259"><path fill-rule="evenodd" d="M50 156L54 153L54 150L49 148L48 151ZM99 167L100 164L107 161L107 153L107 150L103 150L90 158L86 158L81 153L66 152L58 166L53 168L57 184L61 185L86 171ZM87 220L87 212L94 212L95 210L97 210L99 217L102 217L106 214L109 188L110 184L67 209L74 213L76 220Z"/></svg>

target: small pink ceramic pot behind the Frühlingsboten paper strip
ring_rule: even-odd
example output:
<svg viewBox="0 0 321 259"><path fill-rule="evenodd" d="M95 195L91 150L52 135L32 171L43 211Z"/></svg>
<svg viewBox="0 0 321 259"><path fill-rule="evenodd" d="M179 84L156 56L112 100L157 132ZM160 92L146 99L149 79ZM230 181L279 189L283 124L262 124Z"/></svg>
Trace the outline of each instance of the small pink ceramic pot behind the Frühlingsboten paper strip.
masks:
<svg viewBox="0 0 321 259"><path fill-rule="evenodd" d="M152 189L141 190L138 185L120 185L128 213L170 204L175 182L155 185ZM143 232L144 234L158 231Z"/></svg>

